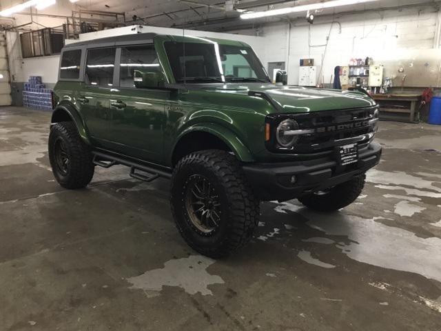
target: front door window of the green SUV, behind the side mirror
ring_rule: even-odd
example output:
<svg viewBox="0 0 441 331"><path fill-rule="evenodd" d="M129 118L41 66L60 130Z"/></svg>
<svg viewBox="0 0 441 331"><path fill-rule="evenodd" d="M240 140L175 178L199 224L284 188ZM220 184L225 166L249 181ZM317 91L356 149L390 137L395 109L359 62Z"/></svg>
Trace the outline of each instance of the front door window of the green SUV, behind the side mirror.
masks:
<svg viewBox="0 0 441 331"><path fill-rule="evenodd" d="M136 79L146 72L160 72L158 57L153 45L129 46L121 48L119 65L119 86L136 88Z"/></svg>

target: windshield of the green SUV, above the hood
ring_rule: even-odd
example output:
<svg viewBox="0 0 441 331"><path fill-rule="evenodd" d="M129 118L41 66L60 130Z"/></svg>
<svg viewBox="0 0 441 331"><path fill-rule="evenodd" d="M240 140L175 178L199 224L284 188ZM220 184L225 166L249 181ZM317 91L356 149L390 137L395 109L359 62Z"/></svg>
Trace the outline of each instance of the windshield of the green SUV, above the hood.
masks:
<svg viewBox="0 0 441 331"><path fill-rule="evenodd" d="M164 47L176 83L269 82L247 46L167 41Z"/></svg>

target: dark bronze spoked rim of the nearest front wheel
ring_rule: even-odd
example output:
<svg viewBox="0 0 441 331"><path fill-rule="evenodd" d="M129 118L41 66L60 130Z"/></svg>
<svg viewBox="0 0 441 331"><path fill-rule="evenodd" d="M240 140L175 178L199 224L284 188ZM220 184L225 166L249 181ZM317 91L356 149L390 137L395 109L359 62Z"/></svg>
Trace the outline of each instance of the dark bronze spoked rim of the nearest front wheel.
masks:
<svg viewBox="0 0 441 331"><path fill-rule="evenodd" d="M220 225L220 202L214 185L207 177L194 174L185 188L185 210L197 232L214 233Z"/></svg>

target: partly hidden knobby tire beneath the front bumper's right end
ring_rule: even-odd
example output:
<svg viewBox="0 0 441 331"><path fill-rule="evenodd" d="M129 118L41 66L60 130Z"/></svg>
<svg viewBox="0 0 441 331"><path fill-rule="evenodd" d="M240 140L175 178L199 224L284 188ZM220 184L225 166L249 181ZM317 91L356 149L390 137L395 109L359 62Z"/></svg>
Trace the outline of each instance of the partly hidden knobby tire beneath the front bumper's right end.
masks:
<svg viewBox="0 0 441 331"><path fill-rule="evenodd" d="M326 194L308 194L298 198L298 201L319 212L332 212L350 205L360 195L365 186L365 174L353 177L345 183L338 184L327 190Z"/></svg>

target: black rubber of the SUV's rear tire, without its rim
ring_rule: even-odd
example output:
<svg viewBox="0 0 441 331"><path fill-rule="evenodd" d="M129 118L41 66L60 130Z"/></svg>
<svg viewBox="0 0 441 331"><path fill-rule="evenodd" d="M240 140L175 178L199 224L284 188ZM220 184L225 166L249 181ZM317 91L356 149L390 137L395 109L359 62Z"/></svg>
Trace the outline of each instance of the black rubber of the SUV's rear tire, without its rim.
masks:
<svg viewBox="0 0 441 331"><path fill-rule="evenodd" d="M62 142L68 155L67 170L63 173L57 166L55 145ZM92 153L79 135L73 122L59 122L51 126L49 134L49 160L52 172L63 188L84 188L94 175Z"/></svg>

